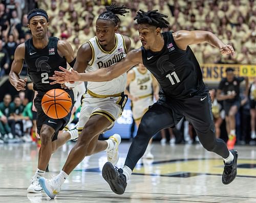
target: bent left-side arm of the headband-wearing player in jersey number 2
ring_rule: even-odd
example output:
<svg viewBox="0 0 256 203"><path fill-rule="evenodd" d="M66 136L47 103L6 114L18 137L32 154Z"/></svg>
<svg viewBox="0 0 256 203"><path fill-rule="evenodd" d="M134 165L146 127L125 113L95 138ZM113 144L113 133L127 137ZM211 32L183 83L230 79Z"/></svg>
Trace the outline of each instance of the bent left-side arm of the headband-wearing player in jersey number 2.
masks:
<svg viewBox="0 0 256 203"><path fill-rule="evenodd" d="M23 62L25 58L25 43L17 46L14 53L14 60L12 62L11 71L9 73L10 83L15 87L17 91L25 90L27 78L20 79L19 73L22 71Z"/></svg>

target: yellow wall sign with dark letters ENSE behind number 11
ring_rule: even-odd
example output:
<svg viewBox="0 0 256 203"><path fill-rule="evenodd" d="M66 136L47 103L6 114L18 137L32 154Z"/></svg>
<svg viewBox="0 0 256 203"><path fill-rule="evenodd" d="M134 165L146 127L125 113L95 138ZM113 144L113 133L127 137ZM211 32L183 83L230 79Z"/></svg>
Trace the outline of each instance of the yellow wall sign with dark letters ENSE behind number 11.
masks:
<svg viewBox="0 0 256 203"><path fill-rule="evenodd" d="M226 77L226 68L234 69L234 74L237 77L249 77L252 81L256 77L256 65L241 65L241 64L202 64L203 80L207 82L220 82Z"/></svg>

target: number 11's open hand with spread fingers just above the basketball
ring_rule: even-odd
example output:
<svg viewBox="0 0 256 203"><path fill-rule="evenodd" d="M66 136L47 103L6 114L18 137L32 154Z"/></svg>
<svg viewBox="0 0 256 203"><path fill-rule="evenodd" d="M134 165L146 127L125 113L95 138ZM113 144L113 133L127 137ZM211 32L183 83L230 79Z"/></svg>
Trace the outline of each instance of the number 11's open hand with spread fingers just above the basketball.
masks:
<svg viewBox="0 0 256 203"><path fill-rule="evenodd" d="M50 80L53 80L51 82L51 85L54 85L56 83L63 84L66 82L74 83L76 81L79 81L80 75L77 71L73 70L67 70L66 68L63 68L59 66L59 69L62 71L54 71L54 75L52 77L49 77Z"/></svg>

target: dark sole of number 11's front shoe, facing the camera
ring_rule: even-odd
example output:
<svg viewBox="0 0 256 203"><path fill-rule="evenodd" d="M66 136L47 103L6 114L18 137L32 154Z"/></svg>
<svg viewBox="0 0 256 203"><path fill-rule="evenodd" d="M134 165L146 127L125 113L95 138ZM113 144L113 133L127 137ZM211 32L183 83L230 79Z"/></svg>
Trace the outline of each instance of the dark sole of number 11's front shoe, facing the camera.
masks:
<svg viewBox="0 0 256 203"><path fill-rule="evenodd" d="M119 190L115 187L115 182L117 180L117 174L114 166L110 162L106 162L102 168L103 179L110 185L110 188L116 194L123 194L123 190Z"/></svg>

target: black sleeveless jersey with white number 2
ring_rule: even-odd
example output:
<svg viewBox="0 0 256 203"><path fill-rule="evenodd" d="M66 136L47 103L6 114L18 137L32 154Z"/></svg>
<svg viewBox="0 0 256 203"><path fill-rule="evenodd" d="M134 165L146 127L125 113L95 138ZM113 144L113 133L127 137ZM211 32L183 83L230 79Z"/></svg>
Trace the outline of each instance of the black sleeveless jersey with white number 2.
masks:
<svg viewBox="0 0 256 203"><path fill-rule="evenodd" d="M49 37L45 48L37 49L33 46L32 38L25 42L25 62L28 65L28 74L33 81L34 90L45 93L51 89L61 89L60 84L50 85L49 77L59 66L67 68L67 61L58 55L58 38Z"/></svg>

